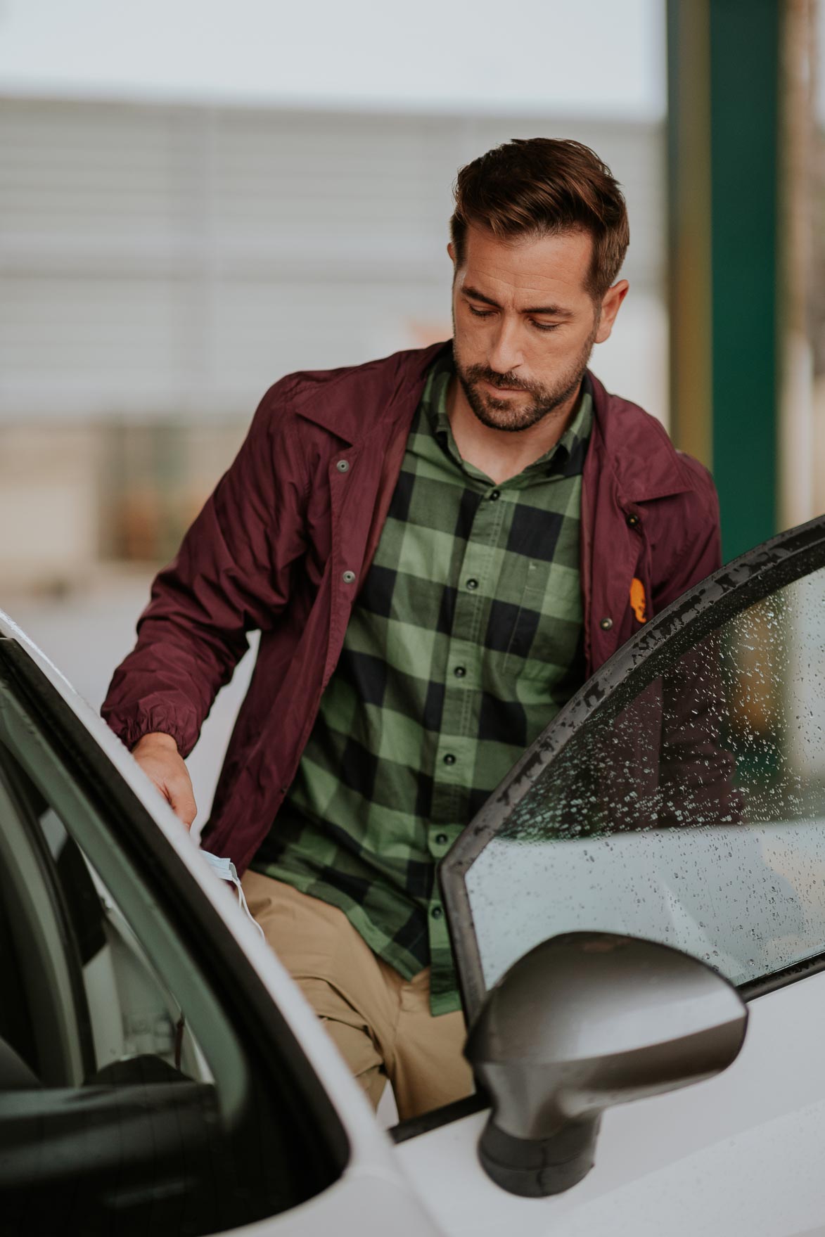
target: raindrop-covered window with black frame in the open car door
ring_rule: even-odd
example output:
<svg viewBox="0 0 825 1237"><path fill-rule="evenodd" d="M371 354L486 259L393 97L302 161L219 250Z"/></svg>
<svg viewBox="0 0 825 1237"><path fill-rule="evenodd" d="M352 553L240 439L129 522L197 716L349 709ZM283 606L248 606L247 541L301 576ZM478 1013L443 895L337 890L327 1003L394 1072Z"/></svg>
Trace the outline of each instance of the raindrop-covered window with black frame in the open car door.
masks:
<svg viewBox="0 0 825 1237"><path fill-rule="evenodd" d="M476 1002L579 929L675 945L746 987L825 951L825 521L772 546L620 651L454 847Z"/></svg>

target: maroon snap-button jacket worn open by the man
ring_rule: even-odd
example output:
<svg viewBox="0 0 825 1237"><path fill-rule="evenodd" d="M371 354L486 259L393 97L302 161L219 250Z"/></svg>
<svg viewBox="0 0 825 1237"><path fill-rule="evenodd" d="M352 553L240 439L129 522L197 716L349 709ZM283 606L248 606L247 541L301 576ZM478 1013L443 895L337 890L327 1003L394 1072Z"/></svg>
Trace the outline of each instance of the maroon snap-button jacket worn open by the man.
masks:
<svg viewBox="0 0 825 1237"><path fill-rule="evenodd" d="M152 585L135 649L103 715L129 746L150 731L194 747L212 703L260 628L203 833L242 872L272 825L338 662L377 547L425 371L443 344L367 365L291 374ZM662 426L590 377L594 428L581 496L588 674L720 563L707 471Z"/></svg>

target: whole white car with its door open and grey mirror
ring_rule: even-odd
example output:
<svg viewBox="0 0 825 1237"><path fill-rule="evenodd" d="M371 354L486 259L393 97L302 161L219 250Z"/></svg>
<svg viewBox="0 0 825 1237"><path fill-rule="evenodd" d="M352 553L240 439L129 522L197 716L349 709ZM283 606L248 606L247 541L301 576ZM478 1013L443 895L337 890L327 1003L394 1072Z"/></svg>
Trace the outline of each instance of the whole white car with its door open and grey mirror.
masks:
<svg viewBox="0 0 825 1237"><path fill-rule="evenodd" d="M0 615L2 1237L825 1235L825 517L642 627L440 880L479 1090L385 1131Z"/></svg>

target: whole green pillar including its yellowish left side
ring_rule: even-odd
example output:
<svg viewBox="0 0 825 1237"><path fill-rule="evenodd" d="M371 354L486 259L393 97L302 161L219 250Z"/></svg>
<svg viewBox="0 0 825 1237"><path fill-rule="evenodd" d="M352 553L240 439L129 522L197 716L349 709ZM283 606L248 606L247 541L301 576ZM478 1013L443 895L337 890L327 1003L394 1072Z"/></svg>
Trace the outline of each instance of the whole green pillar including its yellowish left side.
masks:
<svg viewBox="0 0 825 1237"><path fill-rule="evenodd" d="M677 445L705 443L725 559L777 531L782 10L780 0L668 5L673 426ZM679 262L689 241L674 218L691 213L705 223L698 249L706 266L691 275L704 293L686 303ZM703 303L709 332L685 313ZM699 346L683 341L693 330ZM696 365L707 398L688 408L685 367Z"/></svg>

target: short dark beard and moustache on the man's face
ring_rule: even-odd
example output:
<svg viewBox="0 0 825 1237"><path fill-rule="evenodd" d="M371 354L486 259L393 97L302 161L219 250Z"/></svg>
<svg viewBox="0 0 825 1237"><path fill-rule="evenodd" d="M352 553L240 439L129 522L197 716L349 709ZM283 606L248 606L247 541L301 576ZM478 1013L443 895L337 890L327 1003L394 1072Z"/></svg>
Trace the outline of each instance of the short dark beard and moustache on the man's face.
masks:
<svg viewBox="0 0 825 1237"><path fill-rule="evenodd" d="M456 343L454 341L455 372L476 418L482 426L487 426L490 429L503 429L517 433L521 429L529 429L531 426L538 424L544 417L550 416L558 408L563 407L581 385L597 329L599 323L596 322L576 359L557 379L553 386L544 386L541 382L524 382L523 379L518 379L512 374L496 374L495 370L487 369L486 365L463 366ZM482 390L479 386L480 382L490 382L497 387L526 391L532 398L527 404L515 404L511 391L508 391L506 395L502 392L502 398L497 400L490 391Z"/></svg>

